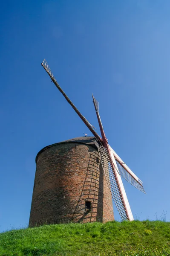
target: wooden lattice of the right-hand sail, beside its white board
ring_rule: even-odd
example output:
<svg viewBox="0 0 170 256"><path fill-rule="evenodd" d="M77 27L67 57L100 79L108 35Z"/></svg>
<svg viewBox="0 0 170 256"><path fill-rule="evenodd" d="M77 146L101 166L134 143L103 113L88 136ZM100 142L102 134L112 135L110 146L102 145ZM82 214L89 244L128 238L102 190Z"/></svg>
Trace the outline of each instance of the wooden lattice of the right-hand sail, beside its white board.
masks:
<svg viewBox="0 0 170 256"><path fill-rule="evenodd" d="M127 180L130 184L132 184L135 188L139 189L141 192L143 192L144 194L146 194L144 187L140 184L140 180L135 180L135 178L130 175L129 172L127 172L127 170L121 165L121 163L116 160L116 164L118 166L118 171L120 173L120 175Z"/></svg>

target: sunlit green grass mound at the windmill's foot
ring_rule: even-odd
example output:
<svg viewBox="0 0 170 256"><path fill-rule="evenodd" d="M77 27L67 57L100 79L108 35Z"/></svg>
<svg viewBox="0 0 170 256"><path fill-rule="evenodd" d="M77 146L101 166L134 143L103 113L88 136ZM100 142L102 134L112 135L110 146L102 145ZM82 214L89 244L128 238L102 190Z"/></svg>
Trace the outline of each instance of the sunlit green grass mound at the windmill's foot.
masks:
<svg viewBox="0 0 170 256"><path fill-rule="evenodd" d="M170 256L170 222L56 224L0 233L0 256Z"/></svg>

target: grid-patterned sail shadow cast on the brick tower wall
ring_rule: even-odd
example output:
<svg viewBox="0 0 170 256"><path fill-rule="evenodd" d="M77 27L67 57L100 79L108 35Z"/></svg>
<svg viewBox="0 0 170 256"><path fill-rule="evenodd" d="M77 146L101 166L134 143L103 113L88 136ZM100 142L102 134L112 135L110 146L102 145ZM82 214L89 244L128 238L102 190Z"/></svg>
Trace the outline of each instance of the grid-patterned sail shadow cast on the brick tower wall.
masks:
<svg viewBox="0 0 170 256"><path fill-rule="evenodd" d="M84 185L72 217L73 222L103 221L103 178L98 152L91 151ZM91 209L86 209L85 201L91 202Z"/></svg>

